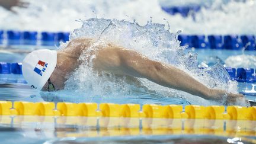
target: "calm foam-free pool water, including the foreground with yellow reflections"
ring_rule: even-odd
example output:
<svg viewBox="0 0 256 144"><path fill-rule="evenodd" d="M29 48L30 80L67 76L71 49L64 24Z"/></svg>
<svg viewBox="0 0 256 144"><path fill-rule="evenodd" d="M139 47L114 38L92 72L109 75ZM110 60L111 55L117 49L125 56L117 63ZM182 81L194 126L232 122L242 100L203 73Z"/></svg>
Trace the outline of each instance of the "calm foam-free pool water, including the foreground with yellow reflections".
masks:
<svg viewBox="0 0 256 144"><path fill-rule="evenodd" d="M25 53L15 52L23 46L12 48L13 53L1 54L1 61L21 62ZM43 46L41 48L44 48ZM55 47L46 47L56 49ZM219 57L222 62L231 55L252 55L240 50L187 49L198 54L199 63L206 57ZM215 65L219 59L208 61ZM54 103L116 103L158 105L190 105L187 100L166 97L154 92L136 91L131 95L108 95L85 97L73 91L39 92L24 83L22 75L0 75L0 101L28 101ZM239 82L239 91L250 89L253 83ZM255 96L246 95L255 101ZM197 103L194 103L197 104ZM218 119L161 119L129 117L59 117L59 116L1 116L1 139L4 143L255 143L255 121ZM16 139L9 139L13 135Z"/></svg>

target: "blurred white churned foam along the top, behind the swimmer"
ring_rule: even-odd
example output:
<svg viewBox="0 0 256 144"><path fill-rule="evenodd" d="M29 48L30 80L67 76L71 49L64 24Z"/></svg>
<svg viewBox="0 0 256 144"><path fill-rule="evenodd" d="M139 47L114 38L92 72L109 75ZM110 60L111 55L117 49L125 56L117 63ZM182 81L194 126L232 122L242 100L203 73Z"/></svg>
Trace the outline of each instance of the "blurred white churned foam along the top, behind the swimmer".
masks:
<svg viewBox="0 0 256 144"><path fill-rule="evenodd" d="M136 20L146 24L150 17L154 23L166 24L175 33L182 30L186 34L255 34L255 1L183 1L183 4L207 5L196 14L187 18L180 14L169 15L161 9L157 0L30 0L28 8L14 8L16 14L1 11L0 26L6 29L70 31L78 28L75 20L84 18L116 18L118 20ZM173 3L173 2L172 2ZM167 2L161 3L168 5ZM180 3L178 3L180 4ZM177 2L169 5L178 5ZM143 6L143 7L142 7ZM165 20L164 20L165 18Z"/></svg>

